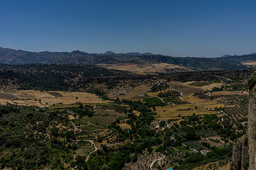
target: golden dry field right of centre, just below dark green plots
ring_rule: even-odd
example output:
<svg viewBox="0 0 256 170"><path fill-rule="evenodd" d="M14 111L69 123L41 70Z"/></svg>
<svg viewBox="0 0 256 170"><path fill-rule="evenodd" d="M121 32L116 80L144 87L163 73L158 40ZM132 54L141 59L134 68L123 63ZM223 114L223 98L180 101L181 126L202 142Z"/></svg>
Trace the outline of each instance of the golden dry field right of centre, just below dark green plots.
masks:
<svg viewBox="0 0 256 170"><path fill-rule="evenodd" d="M195 109L197 107L197 109ZM189 109L190 108L190 109ZM216 111L209 111L196 104L180 104L180 105L166 105L164 107L155 107L157 115L156 120L168 120L180 116L191 116L193 113L196 115L201 114L216 114Z"/></svg>

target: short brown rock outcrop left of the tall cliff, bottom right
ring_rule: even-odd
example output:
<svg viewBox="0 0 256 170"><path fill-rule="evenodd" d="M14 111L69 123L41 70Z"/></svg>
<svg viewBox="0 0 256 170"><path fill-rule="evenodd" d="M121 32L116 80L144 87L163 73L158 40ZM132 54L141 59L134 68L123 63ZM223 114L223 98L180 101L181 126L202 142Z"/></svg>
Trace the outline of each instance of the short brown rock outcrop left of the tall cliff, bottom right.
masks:
<svg viewBox="0 0 256 170"><path fill-rule="evenodd" d="M248 155L248 151L247 135L243 135L233 145L232 162L236 170L245 170L245 168L243 168L243 159Z"/></svg>

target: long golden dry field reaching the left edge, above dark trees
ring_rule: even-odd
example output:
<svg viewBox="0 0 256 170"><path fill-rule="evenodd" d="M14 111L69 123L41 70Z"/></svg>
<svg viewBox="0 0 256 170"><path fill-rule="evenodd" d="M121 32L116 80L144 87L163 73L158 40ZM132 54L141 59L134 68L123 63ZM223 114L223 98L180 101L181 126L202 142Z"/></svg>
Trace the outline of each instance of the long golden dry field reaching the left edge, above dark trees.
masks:
<svg viewBox="0 0 256 170"><path fill-rule="evenodd" d="M86 104L109 102L107 100L100 99L100 97L94 94L89 94L86 92L40 92L34 90L2 90L0 94L10 94L15 96L15 98L13 99L0 99L0 104L2 105L6 103L11 103L19 105L36 105L39 107L48 107L53 104L71 104L76 102Z"/></svg>

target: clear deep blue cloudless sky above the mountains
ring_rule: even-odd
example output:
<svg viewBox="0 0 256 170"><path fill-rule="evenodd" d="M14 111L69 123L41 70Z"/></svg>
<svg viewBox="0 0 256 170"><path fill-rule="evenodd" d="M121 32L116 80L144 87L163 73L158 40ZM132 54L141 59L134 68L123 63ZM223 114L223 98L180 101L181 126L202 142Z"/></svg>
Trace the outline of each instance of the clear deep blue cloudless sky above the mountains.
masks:
<svg viewBox="0 0 256 170"><path fill-rule="evenodd" d="M256 52L256 1L0 1L0 46L32 52Z"/></svg>

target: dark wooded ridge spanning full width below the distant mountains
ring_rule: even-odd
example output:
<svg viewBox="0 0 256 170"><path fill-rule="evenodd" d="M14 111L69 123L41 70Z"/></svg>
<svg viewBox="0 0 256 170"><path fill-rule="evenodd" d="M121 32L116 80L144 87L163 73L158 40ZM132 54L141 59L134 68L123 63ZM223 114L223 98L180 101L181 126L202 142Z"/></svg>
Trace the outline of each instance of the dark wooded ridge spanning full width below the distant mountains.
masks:
<svg viewBox="0 0 256 170"><path fill-rule="evenodd" d="M109 89L120 82L141 82L145 79L167 79L188 82L202 80L243 81L253 69L201 71L164 75L131 75L127 71L108 70L88 65L0 64L0 88L48 91L93 91L98 86Z"/></svg>

